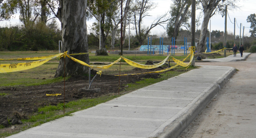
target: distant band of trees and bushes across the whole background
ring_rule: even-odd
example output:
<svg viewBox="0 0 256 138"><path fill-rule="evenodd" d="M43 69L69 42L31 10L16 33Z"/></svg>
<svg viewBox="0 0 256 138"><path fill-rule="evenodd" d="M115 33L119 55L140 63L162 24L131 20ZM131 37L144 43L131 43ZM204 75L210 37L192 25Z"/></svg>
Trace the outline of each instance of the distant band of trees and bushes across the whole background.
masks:
<svg viewBox="0 0 256 138"><path fill-rule="evenodd" d="M92 33L87 34L89 49L99 48L99 35ZM207 32L209 36L209 31ZM135 38L135 34L130 35L130 50L138 48L140 43ZM196 30L196 38L200 36L200 30ZM149 41L151 39L152 45L159 45L160 37L164 38L164 45L171 45L172 38L169 38L165 32L159 34L149 35ZM190 31L180 29L179 35L176 40L184 40L187 37L187 45L190 45ZM212 50L219 50L224 48L224 32L212 30L211 33L211 48ZM124 49L129 48L128 33L124 43ZM0 50L1 51L15 51L15 50L58 50L59 41L61 40L61 30L56 23L56 20L48 24L43 22L31 22L29 24L17 24L12 26L0 27ZM227 48L232 48L234 44L234 34L227 36ZM239 35L236 35L235 43L239 46ZM197 41L196 41L197 42ZM256 45L256 40L253 37L244 36L244 48L248 50L252 45ZM241 39L242 43L242 39ZM148 39L145 39L142 43L148 45ZM175 45L184 45L184 41L176 41ZM106 48L111 49L111 36L106 39ZM116 37L115 49L120 49L120 36Z"/></svg>

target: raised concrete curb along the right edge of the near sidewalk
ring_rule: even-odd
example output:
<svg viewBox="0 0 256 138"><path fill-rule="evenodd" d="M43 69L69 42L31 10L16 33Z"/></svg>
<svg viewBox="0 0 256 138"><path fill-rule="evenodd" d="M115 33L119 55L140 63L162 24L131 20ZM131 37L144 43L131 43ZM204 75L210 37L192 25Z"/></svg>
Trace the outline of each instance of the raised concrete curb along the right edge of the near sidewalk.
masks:
<svg viewBox="0 0 256 138"><path fill-rule="evenodd" d="M212 84L212 87L207 93L204 93L186 112L164 128L158 138L177 138L190 125L190 123L197 117L197 115L206 107L210 100L219 92L224 86L225 82L236 72L235 68L228 70L226 74Z"/></svg>

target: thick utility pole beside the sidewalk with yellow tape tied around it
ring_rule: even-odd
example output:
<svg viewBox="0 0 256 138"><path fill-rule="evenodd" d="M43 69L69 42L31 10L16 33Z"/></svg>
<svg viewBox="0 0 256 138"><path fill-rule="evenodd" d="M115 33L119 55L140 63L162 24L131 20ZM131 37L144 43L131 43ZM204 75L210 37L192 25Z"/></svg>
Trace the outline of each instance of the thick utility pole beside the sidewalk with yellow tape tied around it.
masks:
<svg viewBox="0 0 256 138"><path fill-rule="evenodd" d="M191 48L194 52L194 58L192 60L191 65L195 66L195 51L196 51L196 44L195 44L195 32L196 32L196 0L191 1Z"/></svg>

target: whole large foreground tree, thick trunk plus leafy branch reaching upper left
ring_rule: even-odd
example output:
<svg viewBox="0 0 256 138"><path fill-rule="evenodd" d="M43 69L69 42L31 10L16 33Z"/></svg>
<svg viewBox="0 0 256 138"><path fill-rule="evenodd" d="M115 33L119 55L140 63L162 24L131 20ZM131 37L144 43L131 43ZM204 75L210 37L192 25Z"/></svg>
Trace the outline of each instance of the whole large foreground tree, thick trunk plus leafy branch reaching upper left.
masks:
<svg viewBox="0 0 256 138"><path fill-rule="evenodd" d="M5 7L4 10L1 9L1 12L4 13L4 16L1 16L1 18L10 19L11 15L20 9L19 2L24 2L23 4L27 2L28 6L28 2L31 3L32 0L6 0L4 2L3 4L1 3L1 8ZM87 0L34 0L33 2L46 3L45 5L60 20L62 29L61 52L68 51L68 54L88 52L86 29L86 17L88 15L86 14ZM26 15L29 15L29 11L26 12ZM74 57L90 64L88 54L74 55ZM69 58L65 58L65 60L60 58L60 63L54 77L64 76L64 74L82 75L87 73L88 69L88 67L76 63Z"/></svg>

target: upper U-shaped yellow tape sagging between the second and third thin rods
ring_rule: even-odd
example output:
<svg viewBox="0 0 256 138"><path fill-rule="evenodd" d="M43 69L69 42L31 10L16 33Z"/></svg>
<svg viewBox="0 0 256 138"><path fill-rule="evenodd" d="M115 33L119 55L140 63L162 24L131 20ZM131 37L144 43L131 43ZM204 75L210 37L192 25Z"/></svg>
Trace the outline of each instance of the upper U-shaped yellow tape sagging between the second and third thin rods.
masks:
<svg viewBox="0 0 256 138"><path fill-rule="evenodd" d="M127 62L129 65L132 65L134 67L143 68L143 69L152 69L152 68L157 68L157 67L159 67L161 65L164 65L164 63L166 62L166 60L169 57L170 57L170 55L168 55L163 61L161 61L161 62L159 62L157 64L154 64L154 65L143 65L143 64L136 63L136 62L134 62L132 60L129 60L127 58L124 58L124 57L122 57L122 58L124 59L125 62Z"/></svg>

